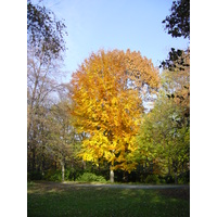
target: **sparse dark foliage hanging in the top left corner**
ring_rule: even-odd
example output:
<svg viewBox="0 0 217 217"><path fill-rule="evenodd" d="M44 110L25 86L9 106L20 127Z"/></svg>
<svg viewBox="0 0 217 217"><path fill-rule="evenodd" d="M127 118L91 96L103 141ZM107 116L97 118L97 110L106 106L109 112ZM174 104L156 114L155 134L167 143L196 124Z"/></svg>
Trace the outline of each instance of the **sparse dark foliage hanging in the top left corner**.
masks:
<svg viewBox="0 0 217 217"><path fill-rule="evenodd" d="M43 60L61 58L66 50L64 36L66 26L44 7L27 1L27 40L36 54L44 53Z"/></svg>

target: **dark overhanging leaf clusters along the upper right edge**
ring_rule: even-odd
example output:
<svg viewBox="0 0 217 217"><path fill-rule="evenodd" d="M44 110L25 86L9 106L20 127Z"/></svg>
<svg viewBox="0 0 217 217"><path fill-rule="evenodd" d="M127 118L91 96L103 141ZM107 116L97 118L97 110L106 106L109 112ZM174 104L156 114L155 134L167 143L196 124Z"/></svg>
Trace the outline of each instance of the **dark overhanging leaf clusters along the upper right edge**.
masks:
<svg viewBox="0 0 217 217"><path fill-rule="evenodd" d="M162 22L165 24L165 29L171 37L183 37L190 40L190 0L174 1L170 11L171 14ZM163 61L159 67L176 73L189 72L190 74L190 48L186 51L171 48L168 55L168 60ZM188 126L190 126L190 84L183 86L181 92L167 94L167 97L179 99L180 104L186 107L184 122L188 122Z"/></svg>

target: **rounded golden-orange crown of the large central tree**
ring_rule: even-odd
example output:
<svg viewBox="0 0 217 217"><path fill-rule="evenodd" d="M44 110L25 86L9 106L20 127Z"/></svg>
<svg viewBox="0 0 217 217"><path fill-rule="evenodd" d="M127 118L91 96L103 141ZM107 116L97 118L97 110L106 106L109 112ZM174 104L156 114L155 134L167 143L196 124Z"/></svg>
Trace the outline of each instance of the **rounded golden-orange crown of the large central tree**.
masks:
<svg viewBox="0 0 217 217"><path fill-rule="evenodd" d="M152 61L130 50L100 50L84 61L71 82L74 124L88 135L80 156L97 165L106 161L111 170L132 170L142 100L159 87Z"/></svg>

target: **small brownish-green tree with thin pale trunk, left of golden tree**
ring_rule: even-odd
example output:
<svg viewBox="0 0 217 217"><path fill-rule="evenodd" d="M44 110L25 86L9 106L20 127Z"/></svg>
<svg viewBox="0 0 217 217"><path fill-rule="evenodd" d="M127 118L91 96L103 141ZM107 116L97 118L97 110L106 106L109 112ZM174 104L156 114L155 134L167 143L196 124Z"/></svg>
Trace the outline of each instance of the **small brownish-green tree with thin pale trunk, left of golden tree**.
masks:
<svg viewBox="0 0 217 217"><path fill-rule="evenodd" d="M68 100L61 99L59 103L51 107L48 117L50 122L49 148L52 155L55 156L54 161L61 165L62 181L65 179L66 163L69 164L69 168L73 168L76 154L80 149L78 135L72 125L68 105Z"/></svg>

